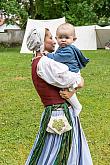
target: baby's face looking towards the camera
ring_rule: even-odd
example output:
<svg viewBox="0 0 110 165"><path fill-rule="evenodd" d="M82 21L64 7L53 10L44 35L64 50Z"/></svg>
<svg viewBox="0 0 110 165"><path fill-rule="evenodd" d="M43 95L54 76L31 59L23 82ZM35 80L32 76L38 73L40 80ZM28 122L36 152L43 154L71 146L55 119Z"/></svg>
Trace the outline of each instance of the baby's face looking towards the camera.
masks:
<svg viewBox="0 0 110 165"><path fill-rule="evenodd" d="M68 31L58 32L56 35L56 40L60 47L65 47L72 44L74 42L74 39L76 38L72 35L71 32Z"/></svg>

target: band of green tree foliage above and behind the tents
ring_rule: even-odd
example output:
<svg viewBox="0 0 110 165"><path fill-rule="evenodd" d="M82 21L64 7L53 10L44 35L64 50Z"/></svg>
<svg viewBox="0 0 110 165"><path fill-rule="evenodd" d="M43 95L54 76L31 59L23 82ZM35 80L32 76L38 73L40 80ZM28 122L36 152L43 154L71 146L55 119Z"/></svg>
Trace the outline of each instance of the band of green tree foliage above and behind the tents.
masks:
<svg viewBox="0 0 110 165"><path fill-rule="evenodd" d="M74 25L109 25L109 0L0 0L8 23L17 19L25 28L27 18L55 19L65 16Z"/></svg>

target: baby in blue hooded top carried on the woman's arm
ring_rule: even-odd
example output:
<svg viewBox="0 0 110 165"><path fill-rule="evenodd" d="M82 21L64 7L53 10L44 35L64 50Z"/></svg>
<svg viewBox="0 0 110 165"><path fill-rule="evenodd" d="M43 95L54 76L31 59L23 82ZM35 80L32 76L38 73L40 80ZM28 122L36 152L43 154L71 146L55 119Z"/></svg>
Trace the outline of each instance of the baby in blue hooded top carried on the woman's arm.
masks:
<svg viewBox="0 0 110 165"><path fill-rule="evenodd" d="M89 59L84 57L82 52L73 45L76 40L75 28L70 23L61 24L56 30L56 40L59 48L55 53L46 53L48 58L66 64L71 72L76 73L77 81L69 88L69 91L77 89L81 84L80 69L86 66ZM76 94L67 100L74 109L75 116L78 116L82 106L77 99Z"/></svg>

